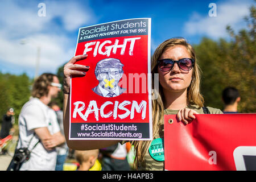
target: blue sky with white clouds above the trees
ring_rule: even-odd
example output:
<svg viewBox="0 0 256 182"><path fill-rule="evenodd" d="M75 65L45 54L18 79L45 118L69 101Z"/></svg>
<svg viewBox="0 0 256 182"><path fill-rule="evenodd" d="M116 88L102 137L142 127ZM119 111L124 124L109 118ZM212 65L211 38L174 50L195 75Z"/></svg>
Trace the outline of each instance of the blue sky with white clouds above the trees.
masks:
<svg viewBox="0 0 256 182"><path fill-rule="evenodd" d="M38 16L39 3L46 16ZM210 3L217 16L210 17ZM183 36L198 44L203 36L228 39L225 27L245 28L253 0L237 1L14 1L0 0L0 72L35 76L56 73L75 53L79 27L130 18L151 18L151 50L168 38Z"/></svg>

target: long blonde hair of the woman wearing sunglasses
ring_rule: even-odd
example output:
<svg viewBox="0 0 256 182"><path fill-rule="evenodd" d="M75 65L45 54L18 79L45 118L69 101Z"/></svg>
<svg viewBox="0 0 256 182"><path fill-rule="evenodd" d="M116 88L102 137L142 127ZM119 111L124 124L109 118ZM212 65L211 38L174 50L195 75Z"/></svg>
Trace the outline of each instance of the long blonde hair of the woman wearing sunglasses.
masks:
<svg viewBox="0 0 256 182"><path fill-rule="evenodd" d="M192 81L189 87L187 88L187 102L188 104L195 104L200 107L203 107L204 104L204 98L200 94L200 68L197 64L195 51L192 48L191 44L187 43L187 41L184 38L172 38L164 41L162 44L156 48L154 55L152 56L151 60L151 73L154 75L154 73L158 73L158 60L162 56L163 52L166 51L166 49L174 46L184 46L187 48L187 51L189 55L191 55L192 59L195 59L194 67L192 69ZM154 76L152 76L152 89L154 89ZM157 92L159 91L159 92ZM162 86L159 85L159 90L155 89L155 92L153 92L153 97L156 98L155 100L152 100L152 131L153 131L153 138L156 137L156 135L159 133L159 128L161 125L161 121L164 117L164 104L163 104L163 89ZM134 144L135 148L135 160L134 160L134 166L138 169L139 163L143 162L144 156L148 150L148 147L150 146L151 141L133 141L132 144Z"/></svg>

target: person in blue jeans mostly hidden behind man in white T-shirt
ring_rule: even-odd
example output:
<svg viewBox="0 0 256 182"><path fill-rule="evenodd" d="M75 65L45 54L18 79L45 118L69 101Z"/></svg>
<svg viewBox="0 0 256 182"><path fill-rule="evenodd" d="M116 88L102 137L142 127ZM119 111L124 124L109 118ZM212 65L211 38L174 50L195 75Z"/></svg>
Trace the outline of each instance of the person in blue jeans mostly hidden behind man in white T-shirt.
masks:
<svg viewBox="0 0 256 182"><path fill-rule="evenodd" d="M56 102L50 102L49 107L51 107L56 115L57 115L57 121L60 126L60 132L62 135L64 135L64 129L63 129L63 111L60 109L59 105L57 105ZM56 147L57 151L57 161L56 161L56 167L55 171L63 171L63 164L65 163L65 160L68 155L68 146L67 143L63 143L60 146Z"/></svg>

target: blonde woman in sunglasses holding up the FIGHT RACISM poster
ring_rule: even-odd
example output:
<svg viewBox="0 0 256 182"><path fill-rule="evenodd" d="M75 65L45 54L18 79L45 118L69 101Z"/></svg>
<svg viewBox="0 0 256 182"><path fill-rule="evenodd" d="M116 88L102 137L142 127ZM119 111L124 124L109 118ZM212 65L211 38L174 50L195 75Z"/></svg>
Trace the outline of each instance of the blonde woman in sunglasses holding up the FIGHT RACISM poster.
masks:
<svg viewBox="0 0 256 182"><path fill-rule="evenodd" d="M117 140L68 140L69 131L69 87L71 76L85 76L89 70L85 65L74 64L86 59L86 55L73 57L64 66L64 129L68 146L75 150L92 150L111 146ZM152 100L153 140L131 142L136 150L135 166L140 170L163 170L164 156L154 157L163 151L164 114L177 114L179 121L187 124L195 114L204 114L204 98L200 94L200 68L195 51L185 39L168 39L156 48L151 62L151 73L159 74L159 90L155 89ZM154 84L154 80L152 81ZM152 85L154 88L154 85ZM220 109L207 107L210 114L221 114Z"/></svg>

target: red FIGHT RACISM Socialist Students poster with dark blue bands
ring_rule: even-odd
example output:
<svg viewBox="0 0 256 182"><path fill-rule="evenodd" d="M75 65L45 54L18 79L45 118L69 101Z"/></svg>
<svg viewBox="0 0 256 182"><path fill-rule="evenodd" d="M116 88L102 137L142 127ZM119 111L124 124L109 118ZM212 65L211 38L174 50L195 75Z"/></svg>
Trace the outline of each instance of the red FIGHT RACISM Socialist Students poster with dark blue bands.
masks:
<svg viewBox="0 0 256 182"><path fill-rule="evenodd" d="M71 78L70 140L152 139L150 38L150 18L79 29L75 64L90 69Z"/></svg>

